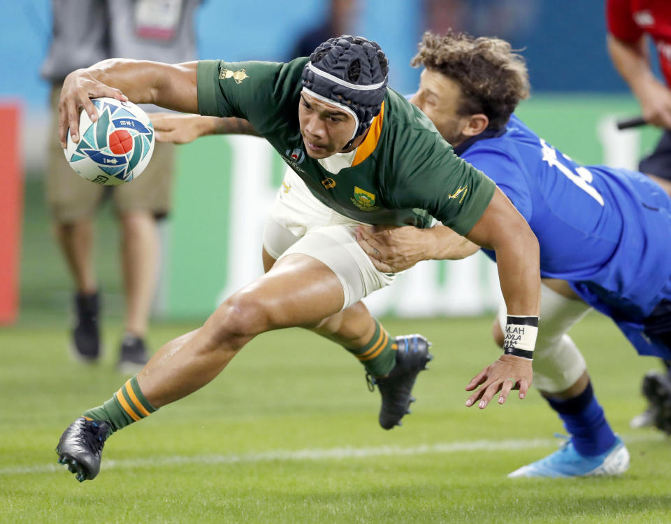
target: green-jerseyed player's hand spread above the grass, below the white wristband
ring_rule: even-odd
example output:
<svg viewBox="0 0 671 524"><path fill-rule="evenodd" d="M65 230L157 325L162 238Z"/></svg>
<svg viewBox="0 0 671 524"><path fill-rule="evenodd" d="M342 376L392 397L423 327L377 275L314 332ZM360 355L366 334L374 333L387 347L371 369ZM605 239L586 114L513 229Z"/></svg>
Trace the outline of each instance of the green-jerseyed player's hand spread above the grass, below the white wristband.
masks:
<svg viewBox="0 0 671 524"><path fill-rule="evenodd" d="M511 390L519 390L519 398L524 399L533 380L531 362L528 358L501 355L498 360L489 364L470 380L466 391L480 387L468 397L466 406L470 407L479 400L477 406L479 409L484 409L498 391L500 391L499 404L505 402Z"/></svg>

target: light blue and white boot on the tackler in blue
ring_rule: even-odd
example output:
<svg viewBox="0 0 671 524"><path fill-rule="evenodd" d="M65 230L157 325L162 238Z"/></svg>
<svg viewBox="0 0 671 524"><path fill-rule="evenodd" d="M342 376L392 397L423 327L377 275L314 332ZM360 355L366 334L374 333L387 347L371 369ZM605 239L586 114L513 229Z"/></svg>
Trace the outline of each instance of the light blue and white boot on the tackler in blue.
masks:
<svg viewBox="0 0 671 524"><path fill-rule="evenodd" d="M566 441L558 451L509 473L515 477L547 477L557 479L571 476L614 476L626 472L629 467L629 452L620 437L612 447L596 455L586 457L575 451L572 441Z"/></svg>

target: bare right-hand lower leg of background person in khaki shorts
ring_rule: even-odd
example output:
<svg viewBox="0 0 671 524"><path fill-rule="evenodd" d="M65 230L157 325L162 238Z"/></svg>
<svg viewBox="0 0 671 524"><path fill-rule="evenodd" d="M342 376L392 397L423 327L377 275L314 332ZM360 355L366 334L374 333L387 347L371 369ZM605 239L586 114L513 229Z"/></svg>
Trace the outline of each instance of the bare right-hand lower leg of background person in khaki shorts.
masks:
<svg viewBox="0 0 671 524"><path fill-rule="evenodd" d="M121 259L126 291L126 331L144 337L156 288L159 240L156 220L148 211L120 216Z"/></svg>

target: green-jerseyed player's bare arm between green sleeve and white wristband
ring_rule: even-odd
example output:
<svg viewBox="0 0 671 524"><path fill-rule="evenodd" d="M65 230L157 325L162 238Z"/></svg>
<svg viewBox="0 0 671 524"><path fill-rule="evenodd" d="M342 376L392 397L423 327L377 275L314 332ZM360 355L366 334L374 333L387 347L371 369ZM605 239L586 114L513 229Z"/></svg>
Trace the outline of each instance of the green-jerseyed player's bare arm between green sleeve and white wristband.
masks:
<svg viewBox="0 0 671 524"><path fill-rule="evenodd" d="M466 237L496 252L501 292L510 315L537 316L540 307L540 250L526 220L498 187L486 211Z"/></svg>

